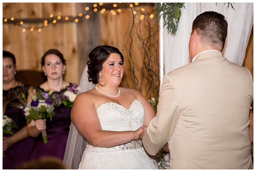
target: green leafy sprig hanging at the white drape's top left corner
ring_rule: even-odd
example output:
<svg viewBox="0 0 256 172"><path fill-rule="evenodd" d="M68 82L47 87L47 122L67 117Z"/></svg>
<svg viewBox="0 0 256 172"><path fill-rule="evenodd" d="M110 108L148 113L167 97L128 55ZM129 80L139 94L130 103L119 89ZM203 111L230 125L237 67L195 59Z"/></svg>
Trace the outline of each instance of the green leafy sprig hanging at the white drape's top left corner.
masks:
<svg viewBox="0 0 256 172"><path fill-rule="evenodd" d="M164 21L163 26L167 25L168 33L175 35L181 15L180 9L182 7L185 8L184 3L155 3L153 9L155 10L156 25L162 16Z"/></svg>

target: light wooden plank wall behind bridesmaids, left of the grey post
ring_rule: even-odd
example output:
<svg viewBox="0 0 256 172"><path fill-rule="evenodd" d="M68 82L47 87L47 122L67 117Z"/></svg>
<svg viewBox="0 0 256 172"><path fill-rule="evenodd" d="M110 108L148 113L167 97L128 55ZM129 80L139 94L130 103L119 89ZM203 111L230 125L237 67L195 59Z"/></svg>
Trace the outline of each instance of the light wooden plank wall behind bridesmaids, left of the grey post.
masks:
<svg viewBox="0 0 256 172"><path fill-rule="evenodd" d="M3 3L3 17L50 18L50 14L62 17L77 15L76 3ZM23 32L24 27L40 27ZM64 80L79 83L78 40L75 22L24 23L15 28L13 24L3 24L3 51L12 52L16 57L17 71L42 71L40 60L49 49L58 49L67 61Z"/></svg>

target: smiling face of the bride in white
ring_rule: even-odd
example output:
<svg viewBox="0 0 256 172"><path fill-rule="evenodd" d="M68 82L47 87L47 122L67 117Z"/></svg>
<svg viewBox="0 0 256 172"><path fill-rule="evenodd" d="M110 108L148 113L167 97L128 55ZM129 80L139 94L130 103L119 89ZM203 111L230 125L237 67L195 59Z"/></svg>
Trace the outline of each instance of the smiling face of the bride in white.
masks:
<svg viewBox="0 0 256 172"><path fill-rule="evenodd" d="M102 84L120 85L124 74L123 61L119 54L112 53L109 58L103 63L102 71L100 72Z"/></svg>

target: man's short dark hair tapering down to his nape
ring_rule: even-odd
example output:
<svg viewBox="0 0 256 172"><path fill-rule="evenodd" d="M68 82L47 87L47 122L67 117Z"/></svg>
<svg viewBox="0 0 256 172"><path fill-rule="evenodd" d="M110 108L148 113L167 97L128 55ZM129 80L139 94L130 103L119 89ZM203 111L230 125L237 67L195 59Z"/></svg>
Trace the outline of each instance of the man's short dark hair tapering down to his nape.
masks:
<svg viewBox="0 0 256 172"><path fill-rule="evenodd" d="M228 33L225 17L217 12L207 11L198 15L193 21L192 33L197 31L202 44L223 50Z"/></svg>

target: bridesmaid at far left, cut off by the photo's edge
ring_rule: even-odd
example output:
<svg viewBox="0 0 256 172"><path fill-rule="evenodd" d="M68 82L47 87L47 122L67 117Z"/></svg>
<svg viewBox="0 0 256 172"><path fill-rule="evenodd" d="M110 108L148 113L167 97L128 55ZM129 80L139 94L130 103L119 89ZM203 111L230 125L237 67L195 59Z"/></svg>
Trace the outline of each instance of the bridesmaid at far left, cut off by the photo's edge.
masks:
<svg viewBox="0 0 256 172"><path fill-rule="evenodd" d="M31 86L15 79L16 60L12 53L3 51L3 112L16 123L19 129L12 129L14 135L3 135L3 169L14 169L16 165L26 163L29 159L34 139L27 134L26 119L22 109L7 103L19 103L21 92L28 96Z"/></svg>

